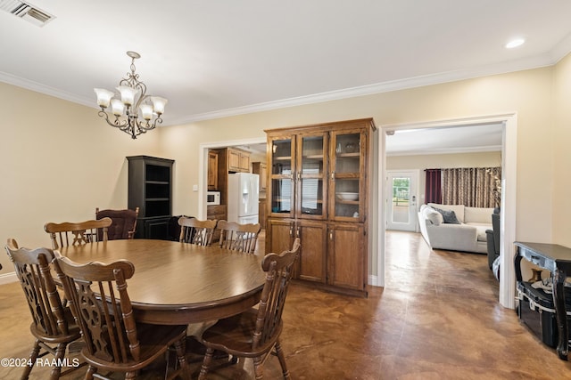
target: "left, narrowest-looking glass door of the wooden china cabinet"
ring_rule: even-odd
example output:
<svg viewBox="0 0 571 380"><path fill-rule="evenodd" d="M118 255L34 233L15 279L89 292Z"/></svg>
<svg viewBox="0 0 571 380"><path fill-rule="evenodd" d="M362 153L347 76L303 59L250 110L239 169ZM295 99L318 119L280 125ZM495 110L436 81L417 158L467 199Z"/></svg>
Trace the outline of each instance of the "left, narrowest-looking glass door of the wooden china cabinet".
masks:
<svg viewBox="0 0 571 380"><path fill-rule="evenodd" d="M294 210L294 142L291 138L271 141L271 214L292 216Z"/></svg>

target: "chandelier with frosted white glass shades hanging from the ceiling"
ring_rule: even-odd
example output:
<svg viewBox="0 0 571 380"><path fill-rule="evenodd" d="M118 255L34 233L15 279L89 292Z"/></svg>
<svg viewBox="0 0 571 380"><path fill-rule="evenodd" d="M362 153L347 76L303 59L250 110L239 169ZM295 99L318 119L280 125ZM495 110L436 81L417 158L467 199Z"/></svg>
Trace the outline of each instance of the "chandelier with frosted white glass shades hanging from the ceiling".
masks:
<svg viewBox="0 0 571 380"><path fill-rule="evenodd" d="M120 100L113 98L115 93L104 88L94 90L97 94L97 105L101 107L97 115L104 117L107 124L137 139L139 134L154 129L157 123L162 123L161 115L167 100L146 94L146 85L139 81L139 75L135 73L135 60L141 58L141 55L137 52L127 52L127 55L131 58L131 72L120 80L117 87ZM110 104L112 115L106 110Z"/></svg>

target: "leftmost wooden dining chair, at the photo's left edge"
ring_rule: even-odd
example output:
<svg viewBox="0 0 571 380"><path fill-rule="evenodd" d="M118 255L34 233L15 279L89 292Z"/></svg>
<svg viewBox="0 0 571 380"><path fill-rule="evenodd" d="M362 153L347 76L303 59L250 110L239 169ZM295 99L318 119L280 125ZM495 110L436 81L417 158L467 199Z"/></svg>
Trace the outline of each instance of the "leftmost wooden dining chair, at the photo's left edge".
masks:
<svg viewBox="0 0 571 380"><path fill-rule="evenodd" d="M58 379L79 368L70 366L62 372L66 348L78 340L81 334L70 309L64 306L55 287L50 271L54 251L48 248L19 248L14 239L8 239L5 248L26 295L32 315L29 330L36 338L21 378L27 379L37 359L49 353L54 355L54 360L49 361L54 364L50 379Z"/></svg>

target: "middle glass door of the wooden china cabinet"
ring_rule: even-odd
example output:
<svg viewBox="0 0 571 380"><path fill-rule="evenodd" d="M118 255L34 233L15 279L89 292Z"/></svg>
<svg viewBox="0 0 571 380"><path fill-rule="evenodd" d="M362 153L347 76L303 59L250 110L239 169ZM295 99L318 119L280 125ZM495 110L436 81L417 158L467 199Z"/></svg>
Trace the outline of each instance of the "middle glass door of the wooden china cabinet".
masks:
<svg viewBox="0 0 571 380"><path fill-rule="evenodd" d="M297 137L297 215L323 219L327 215L327 134L301 134Z"/></svg>

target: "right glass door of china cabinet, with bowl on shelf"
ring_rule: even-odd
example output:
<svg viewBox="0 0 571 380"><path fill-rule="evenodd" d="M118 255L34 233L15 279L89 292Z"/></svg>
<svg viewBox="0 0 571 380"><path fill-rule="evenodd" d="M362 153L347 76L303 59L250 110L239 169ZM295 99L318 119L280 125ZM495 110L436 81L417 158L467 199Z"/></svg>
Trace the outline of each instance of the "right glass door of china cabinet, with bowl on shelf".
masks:
<svg viewBox="0 0 571 380"><path fill-rule="evenodd" d="M333 133L331 137L331 194L330 213L335 220L362 221L363 205L360 198L363 181L363 138L356 131Z"/></svg>

